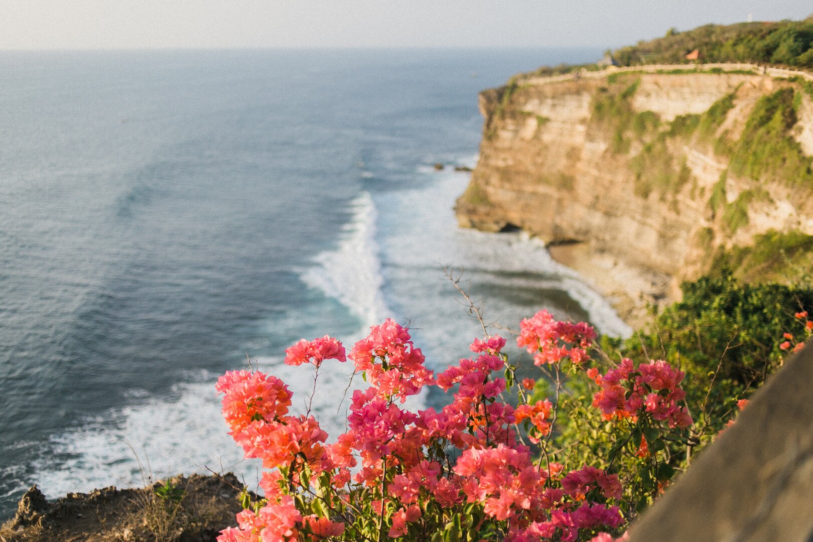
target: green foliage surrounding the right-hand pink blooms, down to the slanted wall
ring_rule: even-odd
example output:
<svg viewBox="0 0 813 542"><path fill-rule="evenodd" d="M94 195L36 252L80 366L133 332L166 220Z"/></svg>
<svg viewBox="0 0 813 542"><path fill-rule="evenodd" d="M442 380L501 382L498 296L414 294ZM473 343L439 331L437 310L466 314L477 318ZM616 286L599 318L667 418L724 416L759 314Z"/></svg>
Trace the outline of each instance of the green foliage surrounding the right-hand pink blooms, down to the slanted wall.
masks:
<svg viewBox="0 0 813 542"><path fill-rule="evenodd" d="M667 449L670 460L657 471L659 481L672 477L726 427L737 412L737 401L750 397L783 362L783 334L805 336L806 319L795 313L813 307L809 286L744 284L728 271L682 284L683 301L668 306L649 327L622 340L602 337L594 358L662 359L685 371L685 405L694 419L686 440L657 441L646 437L648 451ZM561 431L557 447L567 449L570 461L580 465L596 461L597 449L611 449L615 427L593 414L592 381L585 371L570 375L568 393L560 397ZM536 397L550 397L554 384L537 381ZM627 396L628 397L628 396ZM633 439L638 446L640 435ZM613 449L616 453L617 450ZM646 455L646 453L642 453ZM613 466L622 462L620 466ZM606 468L628 469L631 463L613 456ZM634 470L633 470L634 472ZM627 483L646 487L654 480L645 472ZM646 503L639 503L643 507Z"/></svg>

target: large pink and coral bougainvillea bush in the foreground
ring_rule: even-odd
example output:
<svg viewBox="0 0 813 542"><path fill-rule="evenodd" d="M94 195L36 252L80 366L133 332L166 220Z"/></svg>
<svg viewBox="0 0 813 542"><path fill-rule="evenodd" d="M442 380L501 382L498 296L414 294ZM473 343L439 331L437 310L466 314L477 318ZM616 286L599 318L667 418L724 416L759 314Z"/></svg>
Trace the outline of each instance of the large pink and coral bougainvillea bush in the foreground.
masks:
<svg viewBox="0 0 813 542"><path fill-rule="evenodd" d="M586 368L594 337L589 325L542 310L523 320L517 344L537 366L569 362L588 371L598 387L593 405L607 423L646 418L664 431L692 423L679 405L682 372L628 359L603 374ZM436 377L408 328L391 319L347 355L329 336L298 341L285 363L319 371L326 360L350 358L370 384L353 393L346 432L333 440L313 416L289 412L291 392L280 379L226 373L217 390L230 434L266 470L264 497L249 498L237 527L218 540L435 540L437 533L440 540L613 540L600 533L617 533L627 519L619 476L598 466L567 470L556 460L546 438L555 431L556 402L529 393L535 379L517 386L519 404L504 398L513 389L506 382L515 382L505 345L498 336L476 339L472 358ZM406 397L427 387L450 401L440 410L404 408Z"/></svg>

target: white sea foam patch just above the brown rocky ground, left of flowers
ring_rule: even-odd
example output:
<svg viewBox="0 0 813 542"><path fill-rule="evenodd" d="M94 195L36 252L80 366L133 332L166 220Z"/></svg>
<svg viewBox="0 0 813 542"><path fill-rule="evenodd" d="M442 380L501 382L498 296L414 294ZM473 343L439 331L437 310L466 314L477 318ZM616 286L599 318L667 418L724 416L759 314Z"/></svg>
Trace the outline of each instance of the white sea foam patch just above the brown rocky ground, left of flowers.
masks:
<svg viewBox="0 0 813 542"><path fill-rule="evenodd" d="M170 399L153 397L110 410L54 437L54 459L35 463L33 482L56 497L109 485L138 487L179 472L207 474L208 467L233 471L255 485L259 462L244 459L228 436L215 379L198 375L192 383L176 384Z"/></svg>

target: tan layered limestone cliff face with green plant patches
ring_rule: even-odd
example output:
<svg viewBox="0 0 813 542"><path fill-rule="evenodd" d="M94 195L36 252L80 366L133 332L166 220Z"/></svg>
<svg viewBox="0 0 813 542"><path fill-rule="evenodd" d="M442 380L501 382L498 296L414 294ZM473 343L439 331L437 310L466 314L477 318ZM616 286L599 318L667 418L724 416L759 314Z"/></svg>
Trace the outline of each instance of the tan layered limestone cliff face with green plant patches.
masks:
<svg viewBox="0 0 813 542"><path fill-rule="evenodd" d="M486 90L459 223L539 236L633 323L646 302L672 301L681 280L721 262L771 278L754 247L813 235L807 85L616 73Z"/></svg>

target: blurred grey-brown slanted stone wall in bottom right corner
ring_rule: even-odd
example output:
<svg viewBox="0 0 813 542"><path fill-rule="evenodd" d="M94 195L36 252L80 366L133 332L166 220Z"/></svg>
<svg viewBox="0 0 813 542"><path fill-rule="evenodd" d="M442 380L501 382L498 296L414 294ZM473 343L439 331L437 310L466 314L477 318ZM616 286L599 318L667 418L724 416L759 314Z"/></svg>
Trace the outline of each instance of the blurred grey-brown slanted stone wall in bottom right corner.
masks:
<svg viewBox="0 0 813 542"><path fill-rule="evenodd" d="M629 531L629 542L809 542L813 345L754 395Z"/></svg>

